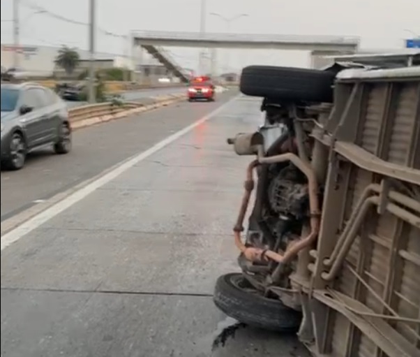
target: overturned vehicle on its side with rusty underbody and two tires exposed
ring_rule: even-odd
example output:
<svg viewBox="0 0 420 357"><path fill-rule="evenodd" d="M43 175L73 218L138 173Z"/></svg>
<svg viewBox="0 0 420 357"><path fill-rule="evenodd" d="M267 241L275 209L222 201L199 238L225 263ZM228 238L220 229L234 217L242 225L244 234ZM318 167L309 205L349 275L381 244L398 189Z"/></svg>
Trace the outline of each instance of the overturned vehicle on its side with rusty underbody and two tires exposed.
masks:
<svg viewBox="0 0 420 357"><path fill-rule="evenodd" d="M296 332L317 357L420 356L419 65L420 52L243 69L265 123L228 139L254 158L241 272L214 293L225 314Z"/></svg>

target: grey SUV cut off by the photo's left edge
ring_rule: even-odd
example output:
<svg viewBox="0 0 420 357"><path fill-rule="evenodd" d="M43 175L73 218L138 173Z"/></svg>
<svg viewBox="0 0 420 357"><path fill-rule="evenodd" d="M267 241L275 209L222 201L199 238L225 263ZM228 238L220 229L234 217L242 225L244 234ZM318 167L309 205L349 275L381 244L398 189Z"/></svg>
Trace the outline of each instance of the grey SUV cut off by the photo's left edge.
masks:
<svg viewBox="0 0 420 357"><path fill-rule="evenodd" d="M1 83L1 166L19 170L27 154L52 145L71 150L66 103L51 89L34 83Z"/></svg>

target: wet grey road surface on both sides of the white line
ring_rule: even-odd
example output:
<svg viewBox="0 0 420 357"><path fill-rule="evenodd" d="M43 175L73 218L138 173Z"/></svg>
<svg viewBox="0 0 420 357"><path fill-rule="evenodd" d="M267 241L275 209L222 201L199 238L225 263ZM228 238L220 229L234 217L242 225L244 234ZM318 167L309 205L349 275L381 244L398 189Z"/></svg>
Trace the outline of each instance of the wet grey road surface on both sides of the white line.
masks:
<svg viewBox="0 0 420 357"><path fill-rule="evenodd" d="M21 202L47 197L147 150L232 96L77 132L68 156L39 155L20 173L1 173L2 214L3 182L5 192L20 190ZM229 323L211 293L219 275L237 270L231 231L250 160L225 139L255 129L258 108L235 99L2 245L1 356L306 357L293 336L251 328L211 348Z"/></svg>

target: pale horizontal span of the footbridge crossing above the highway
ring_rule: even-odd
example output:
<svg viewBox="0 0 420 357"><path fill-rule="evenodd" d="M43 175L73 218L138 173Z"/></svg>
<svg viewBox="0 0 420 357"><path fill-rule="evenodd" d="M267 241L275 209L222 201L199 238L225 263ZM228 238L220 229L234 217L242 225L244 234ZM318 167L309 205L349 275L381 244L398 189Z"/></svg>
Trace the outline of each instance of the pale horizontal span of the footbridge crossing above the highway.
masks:
<svg viewBox="0 0 420 357"><path fill-rule="evenodd" d="M282 43L313 43L313 44L343 44L358 46L360 38L351 36L302 36L276 34L226 34L200 33L178 31L133 31L134 38L156 40L183 41L237 41L237 42L282 42Z"/></svg>

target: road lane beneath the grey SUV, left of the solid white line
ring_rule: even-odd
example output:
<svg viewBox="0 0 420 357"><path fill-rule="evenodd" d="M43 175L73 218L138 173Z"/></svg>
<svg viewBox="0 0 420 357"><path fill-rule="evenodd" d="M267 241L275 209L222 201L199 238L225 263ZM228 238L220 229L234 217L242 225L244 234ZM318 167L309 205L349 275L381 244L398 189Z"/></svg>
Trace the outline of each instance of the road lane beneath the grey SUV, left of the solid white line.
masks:
<svg viewBox="0 0 420 357"><path fill-rule="evenodd" d="M179 103L76 131L68 155L56 155L52 150L31 154L23 170L1 172L1 221L146 150L230 96L223 94L216 103Z"/></svg>

